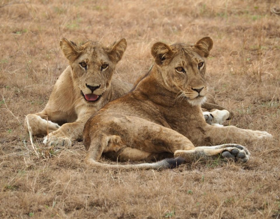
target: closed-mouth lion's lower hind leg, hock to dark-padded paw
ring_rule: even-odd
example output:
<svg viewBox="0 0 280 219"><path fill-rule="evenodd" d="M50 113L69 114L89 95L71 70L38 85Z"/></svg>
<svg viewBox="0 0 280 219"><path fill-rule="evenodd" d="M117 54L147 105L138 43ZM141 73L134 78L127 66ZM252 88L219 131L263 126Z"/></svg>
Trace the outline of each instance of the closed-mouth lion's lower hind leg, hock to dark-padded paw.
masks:
<svg viewBox="0 0 280 219"><path fill-rule="evenodd" d="M193 150L177 150L174 156L183 157L188 163L198 160L214 160L217 158L246 162L250 157L250 152L246 147L241 145L223 144L210 147L196 147Z"/></svg>

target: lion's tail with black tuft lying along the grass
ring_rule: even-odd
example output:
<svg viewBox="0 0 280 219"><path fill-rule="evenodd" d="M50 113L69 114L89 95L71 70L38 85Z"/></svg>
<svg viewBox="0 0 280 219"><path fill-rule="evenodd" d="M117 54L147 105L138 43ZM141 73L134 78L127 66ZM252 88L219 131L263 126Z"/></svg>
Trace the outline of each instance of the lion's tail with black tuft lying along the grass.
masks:
<svg viewBox="0 0 280 219"><path fill-rule="evenodd" d="M114 165L114 164L104 164L100 163L92 158L87 158L86 162L97 168L110 168L115 170L162 170L162 169L172 169L180 166L185 161L182 157L167 158L155 163L143 163L143 164L128 164L128 165Z"/></svg>

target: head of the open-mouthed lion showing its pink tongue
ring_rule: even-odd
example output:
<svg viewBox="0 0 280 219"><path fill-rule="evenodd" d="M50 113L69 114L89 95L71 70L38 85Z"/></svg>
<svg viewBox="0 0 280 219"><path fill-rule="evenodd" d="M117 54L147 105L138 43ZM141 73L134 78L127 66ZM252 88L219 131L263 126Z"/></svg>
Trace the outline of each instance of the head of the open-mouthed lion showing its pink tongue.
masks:
<svg viewBox="0 0 280 219"><path fill-rule="evenodd" d="M73 83L81 90L85 102L95 104L101 101L111 86L115 66L126 47L126 39L121 39L109 47L94 41L77 46L65 38L60 40L60 48L72 68Z"/></svg>

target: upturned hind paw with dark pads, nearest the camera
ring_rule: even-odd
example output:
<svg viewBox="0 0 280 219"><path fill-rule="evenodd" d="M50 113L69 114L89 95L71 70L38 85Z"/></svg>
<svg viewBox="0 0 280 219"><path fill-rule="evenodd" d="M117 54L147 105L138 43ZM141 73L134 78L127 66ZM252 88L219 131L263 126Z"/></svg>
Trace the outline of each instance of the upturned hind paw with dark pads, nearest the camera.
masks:
<svg viewBox="0 0 280 219"><path fill-rule="evenodd" d="M233 147L230 147L233 146ZM222 152L222 157L232 159L234 161L247 162L250 157L250 152L242 145L229 145L225 147Z"/></svg>

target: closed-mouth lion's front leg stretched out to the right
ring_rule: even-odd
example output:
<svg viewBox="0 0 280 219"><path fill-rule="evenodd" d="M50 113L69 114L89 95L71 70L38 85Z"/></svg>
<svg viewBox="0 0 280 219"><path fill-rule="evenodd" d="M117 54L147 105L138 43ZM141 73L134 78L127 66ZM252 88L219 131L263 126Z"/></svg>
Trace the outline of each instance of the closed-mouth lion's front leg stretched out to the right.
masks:
<svg viewBox="0 0 280 219"><path fill-rule="evenodd" d="M266 131L253 131L250 129L241 129L235 126L205 126L206 139L210 140L211 144L221 143L255 143L268 138L272 135Z"/></svg>

